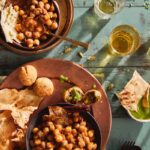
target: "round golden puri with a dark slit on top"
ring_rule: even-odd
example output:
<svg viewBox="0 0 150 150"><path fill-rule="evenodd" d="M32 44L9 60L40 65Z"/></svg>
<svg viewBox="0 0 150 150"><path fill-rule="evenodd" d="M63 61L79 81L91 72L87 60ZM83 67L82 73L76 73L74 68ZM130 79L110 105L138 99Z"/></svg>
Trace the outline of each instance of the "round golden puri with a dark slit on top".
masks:
<svg viewBox="0 0 150 150"><path fill-rule="evenodd" d="M31 86L37 79L37 70L32 65L23 66L19 71L19 80L24 86Z"/></svg>

